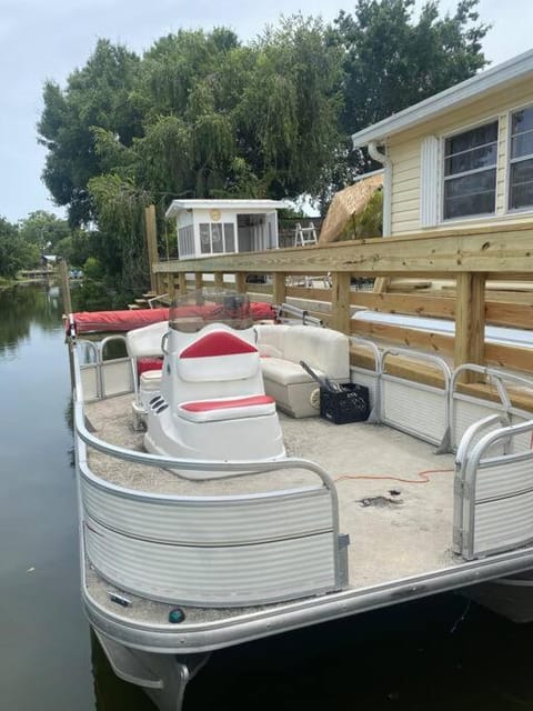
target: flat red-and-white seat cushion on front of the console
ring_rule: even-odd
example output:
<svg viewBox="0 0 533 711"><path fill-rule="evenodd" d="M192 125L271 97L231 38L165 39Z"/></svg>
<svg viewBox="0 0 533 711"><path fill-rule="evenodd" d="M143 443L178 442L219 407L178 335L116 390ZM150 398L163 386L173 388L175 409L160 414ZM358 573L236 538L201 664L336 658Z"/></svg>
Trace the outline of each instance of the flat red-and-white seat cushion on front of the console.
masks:
<svg viewBox="0 0 533 711"><path fill-rule="evenodd" d="M275 413L275 400L270 395L248 395L218 400L182 402L178 414L190 422L214 422Z"/></svg>

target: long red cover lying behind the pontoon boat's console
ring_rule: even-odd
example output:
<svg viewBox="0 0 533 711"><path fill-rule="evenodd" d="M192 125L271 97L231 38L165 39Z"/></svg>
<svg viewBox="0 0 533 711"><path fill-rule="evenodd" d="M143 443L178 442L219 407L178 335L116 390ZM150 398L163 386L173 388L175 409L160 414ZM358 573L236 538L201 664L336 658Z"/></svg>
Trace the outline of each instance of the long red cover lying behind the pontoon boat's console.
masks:
<svg viewBox="0 0 533 711"><path fill-rule="evenodd" d="M212 307L208 307L209 309ZM217 309L218 307L214 307ZM187 316L205 316L205 307L183 307ZM270 303L254 301L250 303L254 321L270 320L275 317ZM185 312L183 313L185 316ZM208 311L209 314L209 311ZM124 311L80 311L73 314L77 333L90 331L131 331L132 329L169 320L169 309L133 309ZM66 324L68 330L69 324Z"/></svg>

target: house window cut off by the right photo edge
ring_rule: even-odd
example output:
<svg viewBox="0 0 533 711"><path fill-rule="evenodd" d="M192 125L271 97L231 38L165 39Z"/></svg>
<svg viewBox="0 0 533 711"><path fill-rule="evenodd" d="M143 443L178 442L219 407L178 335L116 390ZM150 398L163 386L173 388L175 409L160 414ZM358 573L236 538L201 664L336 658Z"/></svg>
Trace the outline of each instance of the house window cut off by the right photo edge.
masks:
<svg viewBox="0 0 533 711"><path fill-rule="evenodd" d="M511 114L509 209L533 206L533 107Z"/></svg>

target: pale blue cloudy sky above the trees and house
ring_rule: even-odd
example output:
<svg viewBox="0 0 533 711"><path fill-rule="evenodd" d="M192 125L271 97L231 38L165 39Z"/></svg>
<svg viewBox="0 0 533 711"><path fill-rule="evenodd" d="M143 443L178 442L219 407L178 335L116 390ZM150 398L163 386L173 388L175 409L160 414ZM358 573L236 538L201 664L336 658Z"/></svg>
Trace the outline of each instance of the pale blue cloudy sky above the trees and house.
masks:
<svg viewBox="0 0 533 711"><path fill-rule="evenodd" d="M37 142L42 87L64 88L97 40L105 38L141 54L168 33L224 26L243 41L280 16L302 11L331 21L354 1L340 0L0 0L0 217L16 223L34 210L64 217L41 181L46 150ZM422 0L416 0L420 7ZM441 14L457 2L441 0ZM533 47L532 0L480 0L480 19L492 24L483 43L492 66Z"/></svg>

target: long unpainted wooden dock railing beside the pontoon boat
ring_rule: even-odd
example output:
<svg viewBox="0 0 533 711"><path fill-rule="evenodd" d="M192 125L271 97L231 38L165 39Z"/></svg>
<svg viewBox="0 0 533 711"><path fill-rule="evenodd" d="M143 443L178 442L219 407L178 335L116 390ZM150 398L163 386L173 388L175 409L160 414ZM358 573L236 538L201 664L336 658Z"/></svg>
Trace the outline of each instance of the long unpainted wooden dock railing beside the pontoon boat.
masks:
<svg viewBox="0 0 533 711"><path fill-rule="evenodd" d="M453 357L465 362L490 363L517 370L533 370L526 348L485 343L485 323L533 329L533 221L497 228L464 228L409 237L378 238L305 247L247 252L204 259L154 262L152 274L160 292L187 289L185 274L194 287L214 274L209 283L221 286L233 274L237 289L269 296L274 303L288 298L313 303L326 323L344 333L378 338ZM328 273L330 289L290 286L290 277ZM248 274L266 274L271 284L247 283ZM352 278L402 277L452 280L452 289L439 294L375 293L354 291ZM495 290L487 281L499 282ZM511 292L501 282L522 283ZM229 286L229 284L227 284ZM324 310L324 302L328 304ZM420 314L455 321L455 338L414 329L363 323L351 319L353 308L388 313ZM533 330L532 330L533 344Z"/></svg>

